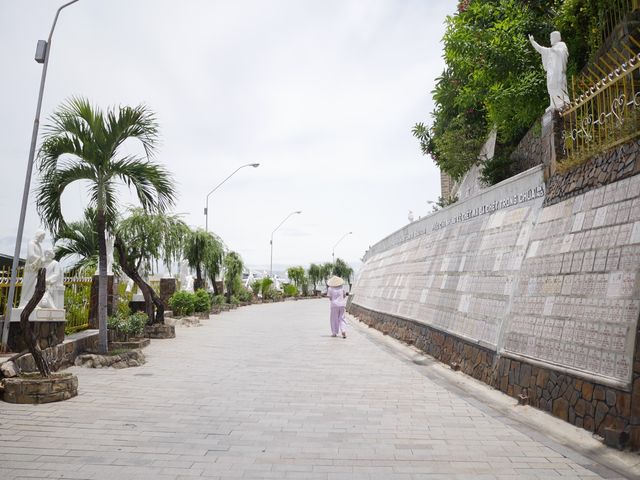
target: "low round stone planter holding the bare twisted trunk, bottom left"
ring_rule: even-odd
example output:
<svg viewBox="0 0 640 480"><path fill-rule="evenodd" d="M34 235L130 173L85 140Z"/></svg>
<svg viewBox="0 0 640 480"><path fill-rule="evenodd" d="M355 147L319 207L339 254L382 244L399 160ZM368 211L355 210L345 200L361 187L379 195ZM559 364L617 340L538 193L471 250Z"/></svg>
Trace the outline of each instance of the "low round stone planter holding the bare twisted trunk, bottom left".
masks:
<svg viewBox="0 0 640 480"><path fill-rule="evenodd" d="M39 374L5 378L2 386L2 399L9 403L60 402L78 395L78 377L71 373L54 373L49 378Z"/></svg>

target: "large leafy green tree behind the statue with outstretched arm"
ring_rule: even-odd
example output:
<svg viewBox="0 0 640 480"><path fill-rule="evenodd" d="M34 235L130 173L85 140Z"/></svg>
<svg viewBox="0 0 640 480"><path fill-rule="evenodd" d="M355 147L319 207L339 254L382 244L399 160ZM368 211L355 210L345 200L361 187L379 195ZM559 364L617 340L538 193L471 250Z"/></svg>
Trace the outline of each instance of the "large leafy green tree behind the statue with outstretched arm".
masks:
<svg viewBox="0 0 640 480"><path fill-rule="evenodd" d="M460 1L446 20L446 67L432 92L433 121L412 130L423 154L459 179L495 128L496 153L483 178L493 184L510 176L509 155L548 105L540 56L527 36L548 45L549 34L560 30L570 51L568 72L575 73L597 47L594 19L606 7L605 0Z"/></svg>

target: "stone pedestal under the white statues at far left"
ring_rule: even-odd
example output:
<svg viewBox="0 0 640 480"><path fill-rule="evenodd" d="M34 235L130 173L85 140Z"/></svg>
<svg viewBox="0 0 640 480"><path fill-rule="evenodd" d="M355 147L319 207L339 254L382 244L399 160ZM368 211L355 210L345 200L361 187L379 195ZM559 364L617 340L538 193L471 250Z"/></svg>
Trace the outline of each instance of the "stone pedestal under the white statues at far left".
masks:
<svg viewBox="0 0 640 480"><path fill-rule="evenodd" d="M13 352L27 350L27 345L22 338L20 326L20 314L23 308L11 310L11 322L9 323L9 348ZM64 341L65 311L58 308L36 308L29 316L29 326L38 339L38 345L42 350L53 347Z"/></svg>

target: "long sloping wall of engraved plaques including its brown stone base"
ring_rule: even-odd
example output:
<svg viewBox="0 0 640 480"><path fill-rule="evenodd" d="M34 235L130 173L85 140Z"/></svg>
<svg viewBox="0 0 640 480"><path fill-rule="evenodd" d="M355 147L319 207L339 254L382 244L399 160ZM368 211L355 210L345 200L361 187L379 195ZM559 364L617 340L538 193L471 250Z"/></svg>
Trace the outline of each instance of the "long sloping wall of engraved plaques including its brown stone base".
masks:
<svg viewBox="0 0 640 480"><path fill-rule="evenodd" d="M350 311L576 425L630 430L638 448L640 175L547 207L541 176L374 245Z"/></svg>

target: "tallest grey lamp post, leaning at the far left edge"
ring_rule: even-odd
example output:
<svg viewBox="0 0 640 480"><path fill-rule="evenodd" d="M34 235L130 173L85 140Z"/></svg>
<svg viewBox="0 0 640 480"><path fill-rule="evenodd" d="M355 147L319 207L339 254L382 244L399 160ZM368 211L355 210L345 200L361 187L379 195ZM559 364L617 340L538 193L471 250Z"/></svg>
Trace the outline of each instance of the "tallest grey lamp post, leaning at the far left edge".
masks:
<svg viewBox="0 0 640 480"><path fill-rule="evenodd" d="M22 234L24 231L24 219L27 213L27 202L29 200L29 189L31 187L31 175L33 173L33 158L36 152L36 141L38 139L38 129L40 127L40 111L42 109L42 97L44 96L44 82L47 78L47 67L49 66L49 54L51 53L51 38L53 37L53 30L56 28L58 22L58 16L60 11L68 7L71 4L76 3L78 0L72 0L62 5L56 11L56 16L53 19L51 25L51 31L49 32L48 39L38 40L36 46L35 60L38 63L42 63L42 76L40 77L40 91L38 92L38 103L36 106L36 116L33 120L33 131L31 132L31 146L29 147L29 160L27 161L27 173L24 179L24 190L22 191L22 206L20 208L20 220L18 221L18 232L16 234L16 246L13 251L13 263L11 264L11 280L9 283L9 294L7 296L7 308L6 315L4 317L4 325L2 327L2 344L0 350L7 348L7 340L9 338L9 323L11 322L11 310L13 308L13 297L15 295L16 277L18 274L18 262L20 261L20 247L22 244Z"/></svg>

